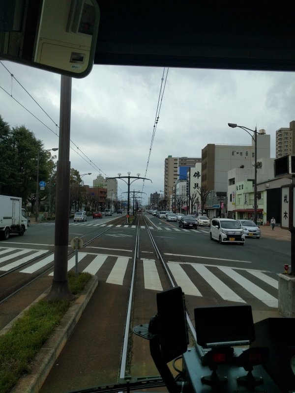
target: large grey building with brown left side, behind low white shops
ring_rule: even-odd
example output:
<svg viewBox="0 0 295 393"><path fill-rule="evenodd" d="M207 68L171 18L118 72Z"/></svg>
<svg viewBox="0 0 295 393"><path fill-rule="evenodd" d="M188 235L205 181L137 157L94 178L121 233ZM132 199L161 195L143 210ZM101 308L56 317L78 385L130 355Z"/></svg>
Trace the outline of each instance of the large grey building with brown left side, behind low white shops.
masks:
<svg viewBox="0 0 295 393"><path fill-rule="evenodd" d="M257 159L270 158L270 135L257 133ZM207 144L202 149L202 187L227 192L228 171L233 168L253 168L255 143L251 145ZM254 173L254 172L253 172Z"/></svg>

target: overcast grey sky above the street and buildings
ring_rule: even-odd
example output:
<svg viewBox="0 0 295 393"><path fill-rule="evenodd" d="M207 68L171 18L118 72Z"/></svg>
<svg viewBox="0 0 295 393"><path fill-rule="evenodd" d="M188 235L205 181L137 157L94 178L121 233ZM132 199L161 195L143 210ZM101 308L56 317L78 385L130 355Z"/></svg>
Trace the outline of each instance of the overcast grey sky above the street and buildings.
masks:
<svg viewBox="0 0 295 393"><path fill-rule="evenodd" d="M58 147L60 76L2 63L9 70L0 64L3 120L11 127L25 125L44 149ZM145 203L150 193L163 190L168 155L201 157L208 143L251 144L250 136L228 127L229 122L264 128L271 135L274 158L275 131L295 120L294 104L294 73L94 65L88 77L72 79L71 168L91 172L83 176L89 186L99 173L140 173L152 183L146 181L143 189L142 180L136 180L130 190L144 191ZM127 185L118 180L118 197L125 191Z"/></svg>

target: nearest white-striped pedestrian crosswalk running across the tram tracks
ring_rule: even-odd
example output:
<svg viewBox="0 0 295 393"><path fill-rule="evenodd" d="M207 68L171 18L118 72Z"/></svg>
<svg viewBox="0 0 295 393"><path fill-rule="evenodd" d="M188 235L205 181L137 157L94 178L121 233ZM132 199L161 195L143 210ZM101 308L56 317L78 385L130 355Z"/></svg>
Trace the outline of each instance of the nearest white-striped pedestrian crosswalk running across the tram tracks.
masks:
<svg viewBox="0 0 295 393"><path fill-rule="evenodd" d="M47 251L49 250L0 247L0 273L20 266L21 273L32 274L47 267L49 269L48 275L53 276L53 254L44 255L44 258L32 262L28 267L24 266L22 269L22 264L29 261L29 258L40 257ZM14 259L16 255L18 255L17 261ZM105 282L115 285L123 285L129 262L132 263L131 256L78 253L79 271L89 272L100 277L100 272L104 270ZM220 260L220 263L222 262L224 263L223 260ZM76 256L70 257L68 270L74 268L75 263ZM163 283L158 273L161 269L159 263L155 259L139 259L137 269L138 271L142 269L146 289L163 290ZM266 307L278 307L278 276L275 273L191 261L170 260L167 263L177 285L181 286L185 295L208 297L209 291L213 293L214 298L225 301L250 303L252 299L256 299ZM217 263L216 260L215 263ZM51 267L52 269L50 269ZM104 269L101 269L102 267ZM107 271L107 275L105 271ZM126 278L128 279L128 277Z"/></svg>

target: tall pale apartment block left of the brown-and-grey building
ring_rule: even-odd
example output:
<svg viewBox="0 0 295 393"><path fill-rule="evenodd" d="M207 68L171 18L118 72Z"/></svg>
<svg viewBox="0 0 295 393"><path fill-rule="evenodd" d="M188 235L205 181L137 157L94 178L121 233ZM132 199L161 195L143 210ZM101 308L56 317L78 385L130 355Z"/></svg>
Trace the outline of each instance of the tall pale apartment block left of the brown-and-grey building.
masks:
<svg viewBox="0 0 295 393"><path fill-rule="evenodd" d="M195 167L197 163L201 163L201 158L195 157L172 157L165 158L164 169L164 195L172 201L171 195L174 193L174 187L178 179L186 179L187 170L181 172L182 167ZM179 169L180 168L180 169ZM184 169L184 168L183 168ZM185 175L184 175L185 172ZM179 175L180 174L180 175ZM171 202L172 203L172 202ZM171 208L172 206L170 206Z"/></svg>

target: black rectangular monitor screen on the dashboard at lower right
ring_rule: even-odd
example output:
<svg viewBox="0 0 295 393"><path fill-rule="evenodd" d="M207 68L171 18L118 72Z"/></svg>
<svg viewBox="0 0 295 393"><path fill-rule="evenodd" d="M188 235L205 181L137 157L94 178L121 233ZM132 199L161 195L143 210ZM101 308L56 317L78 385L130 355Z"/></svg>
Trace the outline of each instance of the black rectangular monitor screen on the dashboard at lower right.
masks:
<svg viewBox="0 0 295 393"><path fill-rule="evenodd" d="M197 307L194 311L197 343L204 348L248 345L255 340L249 305Z"/></svg>

